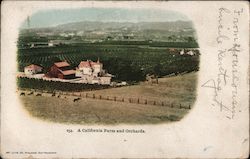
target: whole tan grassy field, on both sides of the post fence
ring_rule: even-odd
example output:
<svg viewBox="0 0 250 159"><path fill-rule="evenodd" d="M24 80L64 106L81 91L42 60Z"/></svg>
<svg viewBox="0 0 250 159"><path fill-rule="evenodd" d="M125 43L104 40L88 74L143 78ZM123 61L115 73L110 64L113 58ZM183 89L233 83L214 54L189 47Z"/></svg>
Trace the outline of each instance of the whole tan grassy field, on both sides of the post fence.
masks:
<svg viewBox="0 0 250 159"><path fill-rule="evenodd" d="M196 98L197 73L161 78L159 84L146 84L91 91L96 94L166 100L193 105ZM20 96L24 107L34 117L70 124L156 124L179 121L189 109L167 106L122 103L106 100L61 96Z"/></svg>

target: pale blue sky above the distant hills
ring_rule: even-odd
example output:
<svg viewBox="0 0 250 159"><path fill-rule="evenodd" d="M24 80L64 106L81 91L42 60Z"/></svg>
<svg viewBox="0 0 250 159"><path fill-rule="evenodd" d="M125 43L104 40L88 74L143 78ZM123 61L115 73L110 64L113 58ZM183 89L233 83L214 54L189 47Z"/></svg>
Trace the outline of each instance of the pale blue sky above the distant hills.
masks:
<svg viewBox="0 0 250 159"><path fill-rule="evenodd" d="M80 8L43 10L30 16L30 27L50 27L79 21L166 22L189 20L178 12L156 9ZM27 20L21 28L27 28Z"/></svg>

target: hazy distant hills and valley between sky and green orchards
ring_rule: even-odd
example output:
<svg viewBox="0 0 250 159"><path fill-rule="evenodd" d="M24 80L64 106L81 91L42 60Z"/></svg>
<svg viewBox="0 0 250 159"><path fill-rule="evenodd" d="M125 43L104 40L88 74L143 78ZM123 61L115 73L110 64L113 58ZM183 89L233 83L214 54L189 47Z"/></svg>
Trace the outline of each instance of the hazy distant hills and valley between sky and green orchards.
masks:
<svg viewBox="0 0 250 159"><path fill-rule="evenodd" d="M47 28L23 29L19 35L27 37L26 40L22 40L23 42L48 41L48 39L185 42L196 39L195 29L191 21L139 23L82 21Z"/></svg>

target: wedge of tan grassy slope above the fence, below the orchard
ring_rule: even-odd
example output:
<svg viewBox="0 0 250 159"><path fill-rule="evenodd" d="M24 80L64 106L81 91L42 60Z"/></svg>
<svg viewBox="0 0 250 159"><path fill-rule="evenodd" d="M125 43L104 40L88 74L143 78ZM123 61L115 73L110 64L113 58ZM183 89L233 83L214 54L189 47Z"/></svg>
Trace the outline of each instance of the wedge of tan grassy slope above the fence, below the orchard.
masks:
<svg viewBox="0 0 250 159"><path fill-rule="evenodd" d="M196 97L197 73L159 78L159 84L141 82L139 85L88 91L109 96L144 98L169 103L192 105Z"/></svg>

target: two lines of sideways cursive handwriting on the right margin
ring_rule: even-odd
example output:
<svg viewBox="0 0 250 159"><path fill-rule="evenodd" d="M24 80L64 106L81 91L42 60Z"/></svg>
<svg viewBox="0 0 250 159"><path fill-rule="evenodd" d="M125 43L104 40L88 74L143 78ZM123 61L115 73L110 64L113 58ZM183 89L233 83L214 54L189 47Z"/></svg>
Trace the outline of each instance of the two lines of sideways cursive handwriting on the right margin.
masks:
<svg viewBox="0 0 250 159"><path fill-rule="evenodd" d="M216 42L217 74L215 78L204 82L201 87L212 90L212 106L220 108L225 117L234 119L238 105L238 92L240 82L240 21L243 9L229 10L221 7L218 10L218 30ZM231 67L230 67L231 65ZM231 94L231 98L228 95ZM239 112L241 112L239 110Z"/></svg>

